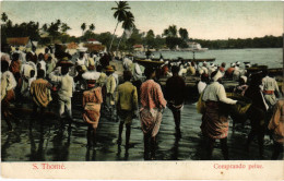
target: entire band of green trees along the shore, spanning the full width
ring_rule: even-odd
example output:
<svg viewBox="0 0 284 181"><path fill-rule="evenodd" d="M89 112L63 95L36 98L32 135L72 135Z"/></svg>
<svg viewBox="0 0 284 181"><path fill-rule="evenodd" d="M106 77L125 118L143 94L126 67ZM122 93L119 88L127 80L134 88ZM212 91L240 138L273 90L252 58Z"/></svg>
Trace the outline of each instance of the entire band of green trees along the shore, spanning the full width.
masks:
<svg viewBox="0 0 284 181"><path fill-rule="evenodd" d="M42 45L48 44L69 44L69 43L85 43L88 39L96 39L106 47L109 47L113 41L111 50L133 50L134 45L143 45L145 49L175 49L188 48L189 41L196 41L203 48L209 49L229 49L229 48L281 48L283 47L282 36L267 35L264 37L247 38L247 39L196 39L189 37L186 28L178 28L176 25L169 25L164 29L162 35L156 35L153 29L141 32L133 27L130 34L126 31L121 36L113 35L110 32L94 33L95 25L81 25L82 36L75 37L68 34L71 27L60 21L56 20L50 24L43 24L39 26L38 22L23 22L21 24L13 24L8 19L5 13L1 14L1 43L4 44L9 37L29 37L32 40L39 41ZM88 27L88 28L87 28Z"/></svg>

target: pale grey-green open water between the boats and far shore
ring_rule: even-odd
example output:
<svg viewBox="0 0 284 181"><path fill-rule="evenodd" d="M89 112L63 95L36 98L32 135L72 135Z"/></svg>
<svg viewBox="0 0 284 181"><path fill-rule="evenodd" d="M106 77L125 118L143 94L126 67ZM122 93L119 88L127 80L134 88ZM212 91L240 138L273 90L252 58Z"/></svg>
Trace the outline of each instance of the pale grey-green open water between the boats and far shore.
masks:
<svg viewBox="0 0 284 181"><path fill-rule="evenodd" d="M181 57L184 59L192 59L193 53L191 51L155 51L154 58L159 58L162 55L165 59L177 59ZM144 52L138 55L138 57L145 57ZM282 48L251 48L251 49L218 49L206 50L204 52L196 52L196 59L215 58L216 64L226 62L229 63L250 62L250 64L268 65L269 68L283 68L283 49ZM244 64L242 64L244 67Z"/></svg>

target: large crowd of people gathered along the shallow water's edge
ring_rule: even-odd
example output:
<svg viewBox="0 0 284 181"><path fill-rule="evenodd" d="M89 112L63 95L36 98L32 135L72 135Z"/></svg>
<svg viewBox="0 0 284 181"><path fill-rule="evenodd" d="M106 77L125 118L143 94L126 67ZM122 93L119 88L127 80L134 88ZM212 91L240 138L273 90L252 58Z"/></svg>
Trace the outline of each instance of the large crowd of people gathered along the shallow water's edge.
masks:
<svg viewBox="0 0 284 181"><path fill-rule="evenodd" d="M272 159L277 159L283 152L284 109L281 90L275 79L268 71L247 75L240 62L220 67L203 62L165 62L161 69L139 65L131 57L122 58L122 79L110 65L108 53L91 52L79 48L79 57L72 62L72 56L56 58L52 48L45 53L36 53L36 47L25 51L1 49L1 116L9 131L13 131L12 121L19 122L10 111L10 104L23 104L25 99L33 102L33 113L39 109L40 114L48 109L51 101L57 102L59 118L64 124L72 123L72 97L82 92L82 119L87 123L87 147L96 145L96 130L102 111L109 112L109 119L120 120L117 143L122 142L126 126L126 146L129 146L131 123L134 118L141 120L144 134L144 158L155 159L156 135L158 134L163 111L173 112L176 136L181 137L181 111L185 105L185 76L200 77L198 92L203 104L202 134L208 138L206 159L211 159L215 140L221 141L224 159L229 159L227 147L228 106L247 107L246 119L250 120L251 131L247 140L247 149L255 136L258 137L259 154L263 157L263 140L267 130L274 141ZM73 67L72 67L73 65ZM249 67L249 64L245 64ZM157 77L166 76L165 90ZM238 81L234 92L246 97L250 102L232 99L226 95L223 79ZM122 82L121 82L122 81ZM141 84L137 84L139 82ZM284 89L282 89L284 92ZM249 106L248 106L249 105ZM245 122L246 120L242 120Z"/></svg>

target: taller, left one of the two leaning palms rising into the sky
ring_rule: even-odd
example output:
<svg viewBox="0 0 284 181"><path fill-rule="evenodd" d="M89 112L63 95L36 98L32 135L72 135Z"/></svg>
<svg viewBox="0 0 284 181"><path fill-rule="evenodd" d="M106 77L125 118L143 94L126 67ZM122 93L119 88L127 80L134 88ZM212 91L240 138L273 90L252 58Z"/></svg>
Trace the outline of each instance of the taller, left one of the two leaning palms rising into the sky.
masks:
<svg viewBox="0 0 284 181"><path fill-rule="evenodd" d="M117 19L117 25L116 25L116 28L115 28L114 34L113 34L113 39L111 39L111 43L110 43L110 46L109 46L109 51L111 50L111 46L113 46L113 43L114 43L117 26L120 22L122 22L126 19L127 10L130 9L127 1L119 1L119 2L116 2L116 4L117 4L117 7L111 8L111 10L115 10L114 17Z"/></svg>

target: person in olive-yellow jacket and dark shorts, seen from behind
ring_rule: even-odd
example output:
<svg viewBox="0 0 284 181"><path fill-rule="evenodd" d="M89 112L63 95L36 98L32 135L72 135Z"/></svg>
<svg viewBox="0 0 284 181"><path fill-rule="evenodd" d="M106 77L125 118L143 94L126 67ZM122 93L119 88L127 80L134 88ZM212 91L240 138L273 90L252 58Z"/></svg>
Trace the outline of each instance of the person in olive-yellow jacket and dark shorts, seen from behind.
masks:
<svg viewBox="0 0 284 181"><path fill-rule="evenodd" d="M129 146L130 140L130 129L132 123L132 118L134 116L134 111L138 110L138 93L137 87L132 85L130 82L132 74L130 71L123 72L123 80L126 81L123 84L118 86L118 92L116 96L117 102L117 113L120 117L119 124L119 136L118 144L121 144L121 134L123 131L123 124L126 124L126 145Z"/></svg>

